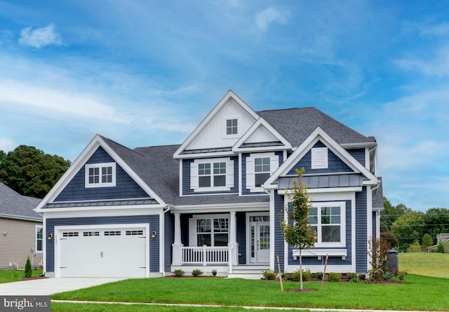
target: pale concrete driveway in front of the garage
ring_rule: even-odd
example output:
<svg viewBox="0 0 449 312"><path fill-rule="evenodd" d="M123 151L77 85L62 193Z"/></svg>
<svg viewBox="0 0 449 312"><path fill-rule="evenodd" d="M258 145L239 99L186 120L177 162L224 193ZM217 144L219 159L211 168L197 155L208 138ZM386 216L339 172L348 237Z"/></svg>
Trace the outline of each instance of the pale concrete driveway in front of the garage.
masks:
<svg viewBox="0 0 449 312"><path fill-rule="evenodd" d="M125 278L39 278L0 284L1 295L48 295L69 290L79 290Z"/></svg>

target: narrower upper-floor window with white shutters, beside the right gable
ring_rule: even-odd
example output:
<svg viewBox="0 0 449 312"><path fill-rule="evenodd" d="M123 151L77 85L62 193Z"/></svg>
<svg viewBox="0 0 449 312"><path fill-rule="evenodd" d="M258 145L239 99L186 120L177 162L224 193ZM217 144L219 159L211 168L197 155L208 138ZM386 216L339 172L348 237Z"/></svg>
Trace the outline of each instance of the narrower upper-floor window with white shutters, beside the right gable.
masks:
<svg viewBox="0 0 449 312"><path fill-rule="evenodd" d="M262 184L279 168L279 156L270 153L251 154L246 158L246 189L263 191Z"/></svg>

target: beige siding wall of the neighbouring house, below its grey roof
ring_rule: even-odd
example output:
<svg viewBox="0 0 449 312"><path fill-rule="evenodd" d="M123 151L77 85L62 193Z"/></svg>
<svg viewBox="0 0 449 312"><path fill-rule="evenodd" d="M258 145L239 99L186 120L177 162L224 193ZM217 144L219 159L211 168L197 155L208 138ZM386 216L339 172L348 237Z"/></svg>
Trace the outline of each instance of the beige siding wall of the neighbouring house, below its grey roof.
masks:
<svg viewBox="0 0 449 312"><path fill-rule="evenodd" d="M10 263L24 269L27 256L32 266L39 266L42 252L32 252L32 248L36 250L36 225L42 226L42 222L0 218L0 269L13 269Z"/></svg>

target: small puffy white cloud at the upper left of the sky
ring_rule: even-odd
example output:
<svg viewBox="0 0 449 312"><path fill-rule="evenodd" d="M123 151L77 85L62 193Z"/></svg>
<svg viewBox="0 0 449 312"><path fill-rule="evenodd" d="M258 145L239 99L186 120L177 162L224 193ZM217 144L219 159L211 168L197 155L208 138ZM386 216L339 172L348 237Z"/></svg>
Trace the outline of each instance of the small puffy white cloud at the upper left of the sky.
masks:
<svg viewBox="0 0 449 312"><path fill-rule="evenodd" d="M61 37L55 32L55 25L49 24L46 27L32 29L26 27L20 32L19 43L24 46L42 48L43 46L62 45Z"/></svg>

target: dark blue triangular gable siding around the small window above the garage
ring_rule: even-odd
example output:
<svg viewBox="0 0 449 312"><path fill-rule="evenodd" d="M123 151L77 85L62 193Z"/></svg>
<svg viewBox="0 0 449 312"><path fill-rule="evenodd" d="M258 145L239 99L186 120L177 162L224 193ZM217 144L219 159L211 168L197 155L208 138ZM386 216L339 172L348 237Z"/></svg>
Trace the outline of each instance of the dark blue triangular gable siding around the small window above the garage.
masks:
<svg viewBox="0 0 449 312"><path fill-rule="evenodd" d="M112 163L109 154L102 147L98 147L95 153L86 163ZM120 198L148 198L149 195L135 181L116 164L116 186L114 187L85 187L85 167L73 177L72 181L65 186L55 202L60 201L95 201L102 199Z"/></svg>

